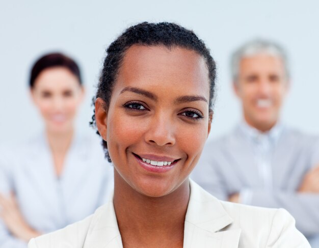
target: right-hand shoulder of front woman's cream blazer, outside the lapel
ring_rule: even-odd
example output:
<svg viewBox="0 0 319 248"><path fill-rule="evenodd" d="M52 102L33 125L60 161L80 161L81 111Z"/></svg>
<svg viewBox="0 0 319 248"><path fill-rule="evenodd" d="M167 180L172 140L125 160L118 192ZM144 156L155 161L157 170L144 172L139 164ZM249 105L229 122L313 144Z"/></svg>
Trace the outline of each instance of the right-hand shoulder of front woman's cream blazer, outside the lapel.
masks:
<svg viewBox="0 0 319 248"><path fill-rule="evenodd" d="M309 247L306 238L297 230L295 219L285 209L263 208L223 202L233 219L229 229L242 229L241 241L255 240L265 247ZM256 240L258 238L258 240Z"/></svg>

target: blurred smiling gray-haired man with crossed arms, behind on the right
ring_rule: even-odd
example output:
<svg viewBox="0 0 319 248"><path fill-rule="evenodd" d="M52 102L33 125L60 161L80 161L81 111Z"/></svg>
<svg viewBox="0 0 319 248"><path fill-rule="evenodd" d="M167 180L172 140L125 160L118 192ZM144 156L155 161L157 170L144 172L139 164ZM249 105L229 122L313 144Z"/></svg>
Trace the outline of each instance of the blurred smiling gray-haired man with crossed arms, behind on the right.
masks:
<svg viewBox="0 0 319 248"><path fill-rule="evenodd" d="M287 209L319 247L319 140L280 122L289 88L285 52L254 40L234 52L231 65L243 121L206 145L192 177L220 199Z"/></svg>

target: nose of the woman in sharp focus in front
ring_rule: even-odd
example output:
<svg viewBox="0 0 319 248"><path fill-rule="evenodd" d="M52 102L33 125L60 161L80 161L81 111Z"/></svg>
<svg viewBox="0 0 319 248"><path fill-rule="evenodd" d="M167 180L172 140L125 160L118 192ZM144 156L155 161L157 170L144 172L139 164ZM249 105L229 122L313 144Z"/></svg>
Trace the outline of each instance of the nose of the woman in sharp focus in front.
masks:
<svg viewBox="0 0 319 248"><path fill-rule="evenodd" d="M145 134L145 141L157 146L173 146L175 144L175 125L167 115L154 116Z"/></svg>

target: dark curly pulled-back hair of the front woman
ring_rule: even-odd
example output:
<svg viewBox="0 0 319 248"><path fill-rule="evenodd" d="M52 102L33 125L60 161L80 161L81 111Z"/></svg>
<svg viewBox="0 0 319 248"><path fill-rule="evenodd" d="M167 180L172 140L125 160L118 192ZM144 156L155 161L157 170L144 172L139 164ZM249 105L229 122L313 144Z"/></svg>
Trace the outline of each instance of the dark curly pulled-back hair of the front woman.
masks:
<svg viewBox="0 0 319 248"><path fill-rule="evenodd" d="M178 24L170 22L142 22L137 25L130 26L123 34L112 42L107 49L107 56L104 60L97 93L93 98L93 104L96 98L100 97L105 102L105 108L109 108L113 87L125 56L125 52L134 44L145 46L163 45L168 49L181 47L196 51L198 54L203 56L209 73L209 108L212 109L215 93L215 61L210 56L209 49L205 46L204 42L200 40L193 31L187 30ZM91 126L96 127L95 111L90 124ZM105 150L105 157L111 162L107 142L103 140L102 145Z"/></svg>

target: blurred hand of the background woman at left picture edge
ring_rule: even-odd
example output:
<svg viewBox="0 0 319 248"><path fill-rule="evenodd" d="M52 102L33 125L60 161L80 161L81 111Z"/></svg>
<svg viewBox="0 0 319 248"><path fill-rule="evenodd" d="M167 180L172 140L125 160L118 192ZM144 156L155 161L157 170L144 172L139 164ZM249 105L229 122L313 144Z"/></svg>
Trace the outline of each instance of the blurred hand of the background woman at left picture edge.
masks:
<svg viewBox="0 0 319 248"><path fill-rule="evenodd" d="M12 235L19 239L28 242L40 235L25 222L13 194L9 197L0 194L0 217Z"/></svg>

